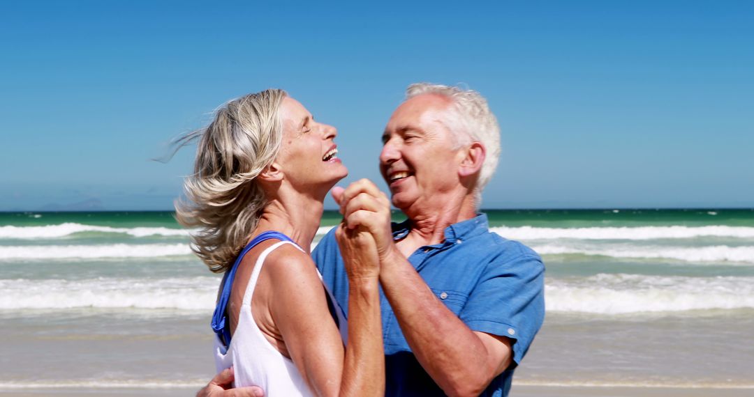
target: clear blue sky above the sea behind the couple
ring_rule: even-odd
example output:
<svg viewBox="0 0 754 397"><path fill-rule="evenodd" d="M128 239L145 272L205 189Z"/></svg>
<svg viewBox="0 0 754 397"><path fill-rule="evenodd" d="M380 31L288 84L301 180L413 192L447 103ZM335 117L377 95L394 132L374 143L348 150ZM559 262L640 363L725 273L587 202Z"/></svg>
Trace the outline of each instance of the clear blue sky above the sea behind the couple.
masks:
<svg viewBox="0 0 754 397"><path fill-rule="evenodd" d="M754 207L752 43L754 2L3 1L0 211L170 209L193 148L150 159L268 87L380 180L417 81L498 116L485 208Z"/></svg>

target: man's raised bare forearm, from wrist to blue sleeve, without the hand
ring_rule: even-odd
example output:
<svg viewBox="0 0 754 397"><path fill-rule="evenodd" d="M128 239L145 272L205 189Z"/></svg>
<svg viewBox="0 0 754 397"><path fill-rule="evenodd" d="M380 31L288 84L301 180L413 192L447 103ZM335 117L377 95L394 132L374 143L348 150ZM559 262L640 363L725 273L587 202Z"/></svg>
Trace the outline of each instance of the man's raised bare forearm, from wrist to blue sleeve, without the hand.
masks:
<svg viewBox="0 0 754 397"><path fill-rule="evenodd" d="M397 250L381 266L382 289L421 366L446 394L479 395L499 373L499 359Z"/></svg>

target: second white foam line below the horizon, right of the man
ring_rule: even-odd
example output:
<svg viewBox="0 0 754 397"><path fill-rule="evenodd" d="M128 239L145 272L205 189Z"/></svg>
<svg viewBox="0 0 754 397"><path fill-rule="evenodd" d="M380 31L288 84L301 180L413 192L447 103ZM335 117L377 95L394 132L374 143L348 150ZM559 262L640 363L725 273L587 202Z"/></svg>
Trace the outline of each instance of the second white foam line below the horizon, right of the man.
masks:
<svg viewBox="0 0 754 397"><path fill-rule="evenodd" d="M576 247L532 244L532 248L540 255L581 254L632 259L676 259L684 262L754 263L754 247L728 247L726 245L708 247Z"/></svg>

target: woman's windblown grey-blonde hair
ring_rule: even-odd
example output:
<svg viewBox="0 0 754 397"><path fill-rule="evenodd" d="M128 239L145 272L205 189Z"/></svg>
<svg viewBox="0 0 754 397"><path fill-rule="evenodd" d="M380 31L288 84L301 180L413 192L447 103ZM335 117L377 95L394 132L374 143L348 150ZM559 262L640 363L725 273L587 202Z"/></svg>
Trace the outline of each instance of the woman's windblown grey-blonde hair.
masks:
<svg viewBox="0 0 754 397"><path fill-rule="evenodd" d="M256 177L277 156L283 137L278 109L286 92L267 89L223 105L198 138L194 174L184 183L186 200L176 201L176 219L192 234L192 250L222 273L243 249L267 203Z"/></svg>

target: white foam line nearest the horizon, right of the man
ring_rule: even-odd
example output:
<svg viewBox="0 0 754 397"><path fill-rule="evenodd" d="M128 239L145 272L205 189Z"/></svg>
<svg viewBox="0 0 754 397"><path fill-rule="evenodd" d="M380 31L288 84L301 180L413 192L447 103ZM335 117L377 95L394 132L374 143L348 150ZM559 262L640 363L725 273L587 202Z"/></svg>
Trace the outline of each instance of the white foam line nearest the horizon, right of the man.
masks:
<svg viewBox="0 0 754 397"><path fill-rule="evenodd" d="M590 228L493 227L492 232L514 240L575 238L580 240L655 240L661 238L754 238L746 226L640 226Z"/></svg>

